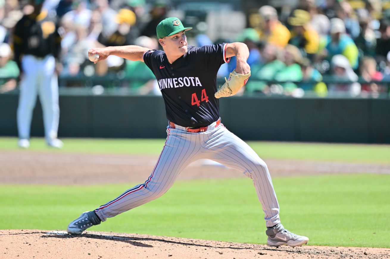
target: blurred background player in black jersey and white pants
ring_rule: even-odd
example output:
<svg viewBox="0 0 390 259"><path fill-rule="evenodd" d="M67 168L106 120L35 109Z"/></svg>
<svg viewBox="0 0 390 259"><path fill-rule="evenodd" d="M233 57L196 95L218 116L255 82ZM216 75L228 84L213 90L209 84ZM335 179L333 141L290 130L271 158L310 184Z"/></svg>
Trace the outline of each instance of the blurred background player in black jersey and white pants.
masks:
<svg viewBox="0 0 390 259"><path fill-rule="evenodd" d="M18 145L30 146L32 112L39 94L43 110L46 143L60 148L57 138L60 109L58 106L58 80L55 73L55 58L60 51L55 17L48 17L42 10L42 0L31 1L34 12L25 15L15 26L14 53L21 71L20 97L17 112Z"/></svg>

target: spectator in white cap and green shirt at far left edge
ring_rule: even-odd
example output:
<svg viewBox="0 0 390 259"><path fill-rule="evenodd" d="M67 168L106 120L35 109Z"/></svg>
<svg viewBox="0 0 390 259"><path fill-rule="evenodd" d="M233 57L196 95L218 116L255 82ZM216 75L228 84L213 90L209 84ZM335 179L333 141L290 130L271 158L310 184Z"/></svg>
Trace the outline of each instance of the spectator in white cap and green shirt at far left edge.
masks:
<svg viewBox="0 0 390 259"><path fill-rule="evenodd" d="M16 79L20 74L18 65L11 60L11 56L11 47L7 43L0 44L0 93L15 89Z"/></svg>

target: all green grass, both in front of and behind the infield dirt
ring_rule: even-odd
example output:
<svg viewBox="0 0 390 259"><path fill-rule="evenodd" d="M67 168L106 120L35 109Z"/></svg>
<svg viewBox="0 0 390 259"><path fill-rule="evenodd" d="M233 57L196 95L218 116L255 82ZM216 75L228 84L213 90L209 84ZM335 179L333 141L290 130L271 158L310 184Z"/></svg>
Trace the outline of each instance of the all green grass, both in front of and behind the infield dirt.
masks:
<svg viewBox="0 0 390 259"><path fill-rule="evenodd" d="M18 151L16 138L0 150ZM158 154L164 140L64 139L48 149L33 138L32 151ZM250 142L262 158L390 164L388 145ZM390 248L390 175L275 177L284 226L309 245ZM81 212L112 200L132 184L99 186L0 185L0 229L66 229ZM141 233L266 243L264 214L250 179L177 181L161 198L108 219L94 231Z"/></svg>

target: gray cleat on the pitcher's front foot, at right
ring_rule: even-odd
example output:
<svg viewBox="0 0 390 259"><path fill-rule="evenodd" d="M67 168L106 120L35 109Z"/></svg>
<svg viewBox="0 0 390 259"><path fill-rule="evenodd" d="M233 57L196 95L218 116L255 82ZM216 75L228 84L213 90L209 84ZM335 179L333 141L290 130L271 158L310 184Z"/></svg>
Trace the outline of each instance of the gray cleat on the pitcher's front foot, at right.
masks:
<svg viewBox="0 0 390 259"><path fill-rule="evenodd" d="M278 224L273 228L267 228L266 234L268 236L267 244L276 248L280 247L281 245L300 247L303 244L307 244L309 241L309 238L306 236L299 236L291 233L285 229L282 224Z"/></svg>

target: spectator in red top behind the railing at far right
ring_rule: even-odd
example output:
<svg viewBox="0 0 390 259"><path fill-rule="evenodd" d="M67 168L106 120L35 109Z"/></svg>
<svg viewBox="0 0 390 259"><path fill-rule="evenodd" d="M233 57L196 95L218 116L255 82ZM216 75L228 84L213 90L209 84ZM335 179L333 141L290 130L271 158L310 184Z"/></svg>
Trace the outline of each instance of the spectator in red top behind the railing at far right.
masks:
<svg viewBox="0 0 390 259"><path fill-rule="evenodd" d="M366 57L362 60L360 65L360 75L366 82L381 81L383 74L376 70L376 61L374 58ZM377 98L379 93L385 92L386 89L383 85L371 82L369 84L362 84L362 96Z"/></svg>

